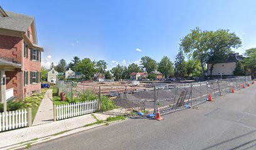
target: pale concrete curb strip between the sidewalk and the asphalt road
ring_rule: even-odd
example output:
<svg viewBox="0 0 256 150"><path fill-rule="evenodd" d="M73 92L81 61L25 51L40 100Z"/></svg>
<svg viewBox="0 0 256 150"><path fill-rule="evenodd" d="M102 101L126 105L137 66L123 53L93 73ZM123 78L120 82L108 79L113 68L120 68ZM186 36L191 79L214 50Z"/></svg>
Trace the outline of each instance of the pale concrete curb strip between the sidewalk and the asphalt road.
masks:
<svg viewBox="0 0 256 150"><path fill-rule="evenodd" d="M52 134L50 136L45 136L45 137L39 138L35 141L33 141L33 139L31 139L30 141L26 141L22 144L18 143L18 144L14 144L14 145L11 145L11 146L6 146L6 147L4 147L4 149L11 149L11 150L26 149L27 144L29 144L29 143L30 143L30 146L36 146L36 145L39 145L39 144L47 143L49 141L53 141L55 139L65 138L67 136L72 136L73 134L78 134L80 132L88 131L90 129L98 128L100 126L108 126L109 124L117 123L117 122L121 122L121 121L125 121L125 120L127 120L127 118L125 118L124 120L111 121L111 122L97 124L97 125L88 126L88 127L81 126L79 128L71 129L71 130L69 130L65 133L62 133L60 135L57 135L57 136Z"/></svg>

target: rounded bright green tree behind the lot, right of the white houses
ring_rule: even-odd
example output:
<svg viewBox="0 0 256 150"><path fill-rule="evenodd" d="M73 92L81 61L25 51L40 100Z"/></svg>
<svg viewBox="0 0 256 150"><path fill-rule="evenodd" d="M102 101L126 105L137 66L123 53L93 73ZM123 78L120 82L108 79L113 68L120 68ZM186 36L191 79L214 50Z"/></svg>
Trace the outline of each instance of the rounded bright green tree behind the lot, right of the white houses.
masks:
<svg viewBox="0 0 256 150"><path fill-rule="evenodd" d="M75 66L75 69L82 73L85 79L92 79L96 73L95 63L93 63L89 58L79 61Z"/></svg>

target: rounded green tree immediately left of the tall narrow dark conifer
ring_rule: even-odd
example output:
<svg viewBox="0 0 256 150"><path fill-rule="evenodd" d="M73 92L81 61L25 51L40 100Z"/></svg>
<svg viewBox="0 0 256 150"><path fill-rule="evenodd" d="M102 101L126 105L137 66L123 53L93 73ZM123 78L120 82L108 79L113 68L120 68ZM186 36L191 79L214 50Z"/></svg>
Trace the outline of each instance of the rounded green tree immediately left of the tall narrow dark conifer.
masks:
<svg viewBox="0 0 256 150"><path fill-rule="evenodd" d="M167 56L164 56L161 61L158 63L158 70L164 74L164 78L169 78L169 76L173 76L174 68L173 63Z"/></svg>

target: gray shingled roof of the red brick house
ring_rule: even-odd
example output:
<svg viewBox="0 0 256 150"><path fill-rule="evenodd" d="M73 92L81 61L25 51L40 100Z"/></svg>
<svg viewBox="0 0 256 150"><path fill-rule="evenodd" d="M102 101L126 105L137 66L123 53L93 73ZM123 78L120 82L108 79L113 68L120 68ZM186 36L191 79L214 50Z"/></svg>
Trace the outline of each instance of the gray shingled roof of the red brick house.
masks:
<svg viewBox="0 0 256 150"><path fill-rule="evenodd" d="M33 21L33 17L16 12L5 11L7 17L0 15L0 28L26 32Z"/></svg>

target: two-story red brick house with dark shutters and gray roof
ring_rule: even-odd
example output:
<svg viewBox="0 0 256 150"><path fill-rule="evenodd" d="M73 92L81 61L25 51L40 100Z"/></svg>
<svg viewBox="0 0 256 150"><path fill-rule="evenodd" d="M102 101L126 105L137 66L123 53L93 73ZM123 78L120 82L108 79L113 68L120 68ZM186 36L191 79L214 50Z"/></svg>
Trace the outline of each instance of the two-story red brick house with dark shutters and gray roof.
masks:
<svg viewBox="0 0 256 150"><path fill-rule="evenodd" d="M0 6L2 103L11 97L23 99L41 92L43 47L37 44L35 18L4 11Z"/></svg>

